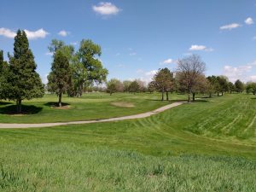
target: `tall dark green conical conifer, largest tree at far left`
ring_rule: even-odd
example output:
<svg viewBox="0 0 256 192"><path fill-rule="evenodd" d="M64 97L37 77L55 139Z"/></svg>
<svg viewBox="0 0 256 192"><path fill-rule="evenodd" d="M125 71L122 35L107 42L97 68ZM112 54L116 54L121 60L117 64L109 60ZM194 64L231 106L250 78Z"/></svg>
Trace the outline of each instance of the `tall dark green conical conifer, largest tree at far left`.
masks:
<svg viewBox="0 0 256 192"><path fill-rule="evenodd" d="M6 97L16 102L17 113L21 113L22 100L44 96L44 84L36 72L32 50L26 32L18 30L15 36L14 55L9 55L9 72L6 75Z"/></svg>

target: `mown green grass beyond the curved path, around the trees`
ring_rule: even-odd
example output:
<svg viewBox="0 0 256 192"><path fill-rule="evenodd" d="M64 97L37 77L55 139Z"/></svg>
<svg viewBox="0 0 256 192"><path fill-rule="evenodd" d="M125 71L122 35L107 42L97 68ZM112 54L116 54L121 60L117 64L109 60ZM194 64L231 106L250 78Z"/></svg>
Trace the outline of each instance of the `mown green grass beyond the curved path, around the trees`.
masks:
<svg viewBox="0 0 256 192"><path fill-rule="evenodd" d="M173 95L172 99L185 96ZM143 113L160 108L167 102L159 102L159 94L109 94L89 93L80 98L64 96L62 102L68 109L53 108L55 95L23 102L24 114L15 114L15 102L0 102L0 123L46 123L87 119L108 119L130 114ZM113 105L112 102L126 102L134 108ZM106 113L108 112L108 113Z"/></svg>

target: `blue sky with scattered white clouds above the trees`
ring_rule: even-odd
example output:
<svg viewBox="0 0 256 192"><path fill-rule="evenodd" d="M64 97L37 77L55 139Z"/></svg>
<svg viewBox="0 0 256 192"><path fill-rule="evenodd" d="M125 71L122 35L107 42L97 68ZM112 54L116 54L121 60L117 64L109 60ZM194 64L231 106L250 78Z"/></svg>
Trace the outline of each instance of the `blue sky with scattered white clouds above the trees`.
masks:
<svg viewBox="0 0 256 192"><path fill-rule="evenodd" d="M207 75L256 81L256 0L3 0L0 49L13 52L14 32L26 29L45 82L51 39L79 48L82 38L102 46L108 79L149 81L160 67L199 54ZM7 59L7 56L5 56Z"/></svg>

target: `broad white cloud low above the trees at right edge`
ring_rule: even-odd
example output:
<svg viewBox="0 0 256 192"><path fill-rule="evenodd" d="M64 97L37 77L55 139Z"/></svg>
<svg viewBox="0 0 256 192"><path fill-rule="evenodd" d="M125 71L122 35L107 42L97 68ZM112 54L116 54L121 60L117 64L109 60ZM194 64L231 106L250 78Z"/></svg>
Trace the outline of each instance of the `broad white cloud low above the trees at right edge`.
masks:
<svg viewBox="0 0 256 192"><path fill-rule="evenodd" d="M252 72L253 67L256 67L256 61L238 67L226 65L224 66L223 75L227 76L231 82L235 82L236 79L247 82L251 80L249 73Z"/></svg>

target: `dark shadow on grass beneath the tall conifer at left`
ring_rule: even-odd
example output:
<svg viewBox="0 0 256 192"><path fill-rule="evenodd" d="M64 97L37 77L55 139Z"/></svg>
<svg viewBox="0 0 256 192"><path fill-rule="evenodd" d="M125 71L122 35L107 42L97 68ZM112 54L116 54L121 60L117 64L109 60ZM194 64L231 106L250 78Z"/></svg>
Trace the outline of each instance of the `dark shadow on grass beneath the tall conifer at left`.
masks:
<svg viewBox="0 0 256 192"><path fill-rule="evenodd" d="M22 112L20 114L35 114L42 111L43 108L36 107L34 105L22 105ZM18 114L16 112L16 105L9 105L3 108L0 108L1 114Z"/></svg>

